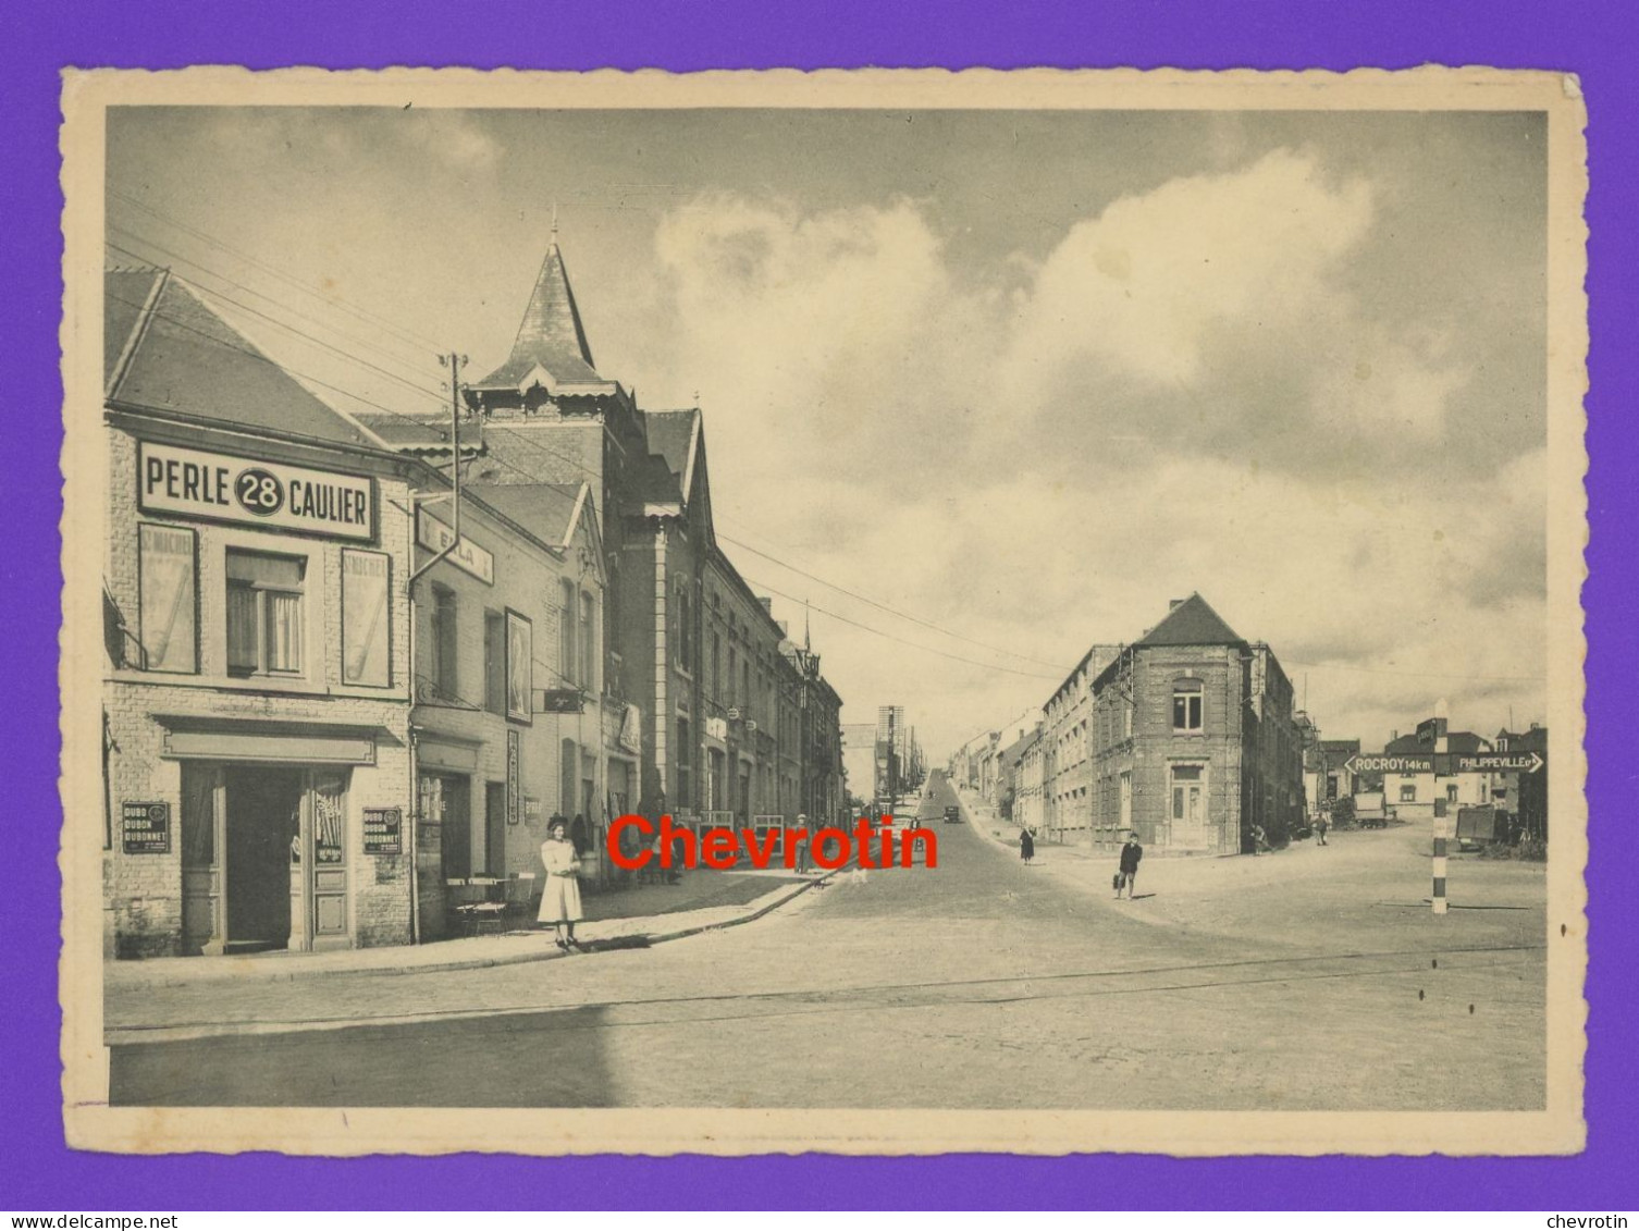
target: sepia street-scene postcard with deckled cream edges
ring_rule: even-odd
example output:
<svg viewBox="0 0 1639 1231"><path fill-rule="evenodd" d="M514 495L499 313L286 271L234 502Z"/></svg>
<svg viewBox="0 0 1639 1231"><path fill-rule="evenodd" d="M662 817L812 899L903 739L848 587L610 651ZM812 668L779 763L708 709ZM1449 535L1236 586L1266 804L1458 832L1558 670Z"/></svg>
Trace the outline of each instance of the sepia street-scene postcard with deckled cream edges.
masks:
<svg viewBox="0 0 1639 1231"><path fill-rule="evenodd" d="M1550 72L69 72L84 1149L1583 1144Z"/></svg>

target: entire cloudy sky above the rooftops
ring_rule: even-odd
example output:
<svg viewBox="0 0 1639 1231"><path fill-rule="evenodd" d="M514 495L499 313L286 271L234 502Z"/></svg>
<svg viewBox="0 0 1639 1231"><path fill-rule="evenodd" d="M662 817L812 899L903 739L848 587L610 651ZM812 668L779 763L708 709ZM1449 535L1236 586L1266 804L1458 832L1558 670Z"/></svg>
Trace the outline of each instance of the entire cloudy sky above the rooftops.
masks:
<svg viewBox="0 0 1639 1231"><path fill-rule="evenodd" d="M556 203L598 370L698 400L720 536L775 615L811 602L844 721L903 703L942 757L1198 590L1373 744L1441 698L1488 734L1544 716L1544 141L1513 113L144 108L110 118L108 239L343 408L425 413L436 349L506 356Z"/></svg>

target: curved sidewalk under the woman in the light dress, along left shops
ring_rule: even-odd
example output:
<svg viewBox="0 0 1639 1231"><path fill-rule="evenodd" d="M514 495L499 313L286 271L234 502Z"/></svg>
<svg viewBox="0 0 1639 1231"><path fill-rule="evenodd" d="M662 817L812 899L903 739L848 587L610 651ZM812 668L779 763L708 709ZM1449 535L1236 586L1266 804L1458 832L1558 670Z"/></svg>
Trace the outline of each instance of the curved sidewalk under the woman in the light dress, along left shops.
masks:
<svg viewBox="0 0 1639 1231"><path fill-rule="evenodd" d="M585 920L575 938L587 952L659 944L715 928L749 923L785 905L834 874L798 875L785 870L683 872L675 885L641 885L585 893ZM154 987L190 987L216 980L290 982L331 974L397 975L426 970L472 970L515 962L569 957L554 929L533 918L516 931L428 944L328 952L262 952L225 957L154 957L105 962L103 988L110 1006L118 993ZM110 1024L113 1024L110 1021Z"/></svg>

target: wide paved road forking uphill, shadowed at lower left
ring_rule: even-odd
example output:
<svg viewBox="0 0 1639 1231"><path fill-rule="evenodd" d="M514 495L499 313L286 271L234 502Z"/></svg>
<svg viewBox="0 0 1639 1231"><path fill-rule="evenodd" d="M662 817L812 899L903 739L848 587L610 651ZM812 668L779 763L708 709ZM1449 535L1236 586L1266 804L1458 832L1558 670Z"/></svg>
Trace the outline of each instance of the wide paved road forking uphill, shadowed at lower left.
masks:
<svg viewBox="0 0 1639 1231"><path fill-rule="evenodd" d="M116 1046L113 1102L1542 1105L1537 944L1157 924L1142 898L1118 906L938 823L952 798L938 782L921 806L938 867L844 874L764 921L646 951L282 985L267 1018L290 1029Z"/></svg>

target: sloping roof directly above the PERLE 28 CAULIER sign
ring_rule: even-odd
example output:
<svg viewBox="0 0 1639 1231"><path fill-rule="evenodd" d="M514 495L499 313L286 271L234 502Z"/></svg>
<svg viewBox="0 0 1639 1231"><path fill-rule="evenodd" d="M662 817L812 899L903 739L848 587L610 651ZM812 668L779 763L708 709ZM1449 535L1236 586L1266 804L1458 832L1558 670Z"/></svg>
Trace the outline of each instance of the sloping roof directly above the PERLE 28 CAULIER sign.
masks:
<svg viewBox="0 0 1639 1231"><path fill-rule="evenodd" d="M105 272L103 382L107 402L380 447L162 269Z"/></svg>

